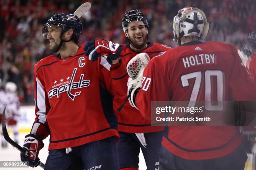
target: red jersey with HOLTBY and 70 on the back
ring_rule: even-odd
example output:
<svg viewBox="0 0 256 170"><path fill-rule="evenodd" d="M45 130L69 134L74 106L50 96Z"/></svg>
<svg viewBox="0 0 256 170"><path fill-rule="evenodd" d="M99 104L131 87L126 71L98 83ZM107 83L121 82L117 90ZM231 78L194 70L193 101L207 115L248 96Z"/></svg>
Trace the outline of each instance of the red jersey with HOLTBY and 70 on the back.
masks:
<svg viewBox="0 0 256 170"><path fill-rule="evenodd" d="M149 119L151 101L255 100L241 62L236 47L223 42L193 41L168 50L148 63L136 105ZM168 126L162 140L170 152L189 160L219 158L240 144L235 126Z"/></svg>

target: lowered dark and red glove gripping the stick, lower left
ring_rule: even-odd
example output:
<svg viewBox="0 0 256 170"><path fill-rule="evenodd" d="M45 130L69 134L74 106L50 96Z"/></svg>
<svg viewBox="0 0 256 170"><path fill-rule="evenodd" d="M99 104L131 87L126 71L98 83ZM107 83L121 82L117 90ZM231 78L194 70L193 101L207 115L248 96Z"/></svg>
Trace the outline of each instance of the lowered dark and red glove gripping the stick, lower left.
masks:
<svg viewBox="0 0 256 170"><path fill-rule="evenodd" d="M22 162L28 161L30 167L37 167L40 164L38 154L39 150L44 147L44 143L40 137L34 134L25 136L23 148L27 151L26 155L20 153L20 160Z"/></svg>

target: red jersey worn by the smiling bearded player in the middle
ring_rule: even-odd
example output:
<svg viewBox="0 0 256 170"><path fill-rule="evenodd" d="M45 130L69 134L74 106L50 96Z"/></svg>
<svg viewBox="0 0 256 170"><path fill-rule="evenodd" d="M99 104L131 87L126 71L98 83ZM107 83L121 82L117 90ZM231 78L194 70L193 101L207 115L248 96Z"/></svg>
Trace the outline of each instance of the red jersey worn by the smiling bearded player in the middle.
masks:
<svg viewBox="0 0 256 170"><path fill-rule="evenodd" d="M153 44L148 42L148 47L141 52L134 52L129 47L129 44L122 44L123 51L119 57L124 62L125 66L128 62L141 52L146 52L150 58L163 54L166 50L170 49L163 44ZM127 82L123 84L127 87ZM129 102L126 102L122 110L119 112L117 109L125 102L125 97L114 97L114 109L118 117L118 131L126 133L149 133L164 130L161 126L151 126L151 120L146 120L135 107L132 107Z"/></svg>

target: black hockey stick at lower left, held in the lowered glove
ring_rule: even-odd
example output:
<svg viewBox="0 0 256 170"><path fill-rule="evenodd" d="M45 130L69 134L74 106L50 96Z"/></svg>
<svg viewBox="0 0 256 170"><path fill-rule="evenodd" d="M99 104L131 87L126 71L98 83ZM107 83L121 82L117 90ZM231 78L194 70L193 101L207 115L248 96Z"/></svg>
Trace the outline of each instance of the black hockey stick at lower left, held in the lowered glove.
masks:
<svg viewBox="0 0 256 170"><path fill-rule="evenodd" d="M5 138L5 140L10 143L11 145L13 145L16 149L18 149L21 153L24 153L25 155L28 156L28 151L26 151L26 149L22 148L20 145L18 145L18 143L15 143L11 138L10 136L8 135L8 131L7 131L7 128L6 128L6 124L5 124L5 109L6 109L6 105L5 105L5 108L3 110L3 115L2 115L2 130L3 130L3 136ZM39 161L40 164L39 166L41 168L44 169L44 163L42 163L41 161Z"/></svg>

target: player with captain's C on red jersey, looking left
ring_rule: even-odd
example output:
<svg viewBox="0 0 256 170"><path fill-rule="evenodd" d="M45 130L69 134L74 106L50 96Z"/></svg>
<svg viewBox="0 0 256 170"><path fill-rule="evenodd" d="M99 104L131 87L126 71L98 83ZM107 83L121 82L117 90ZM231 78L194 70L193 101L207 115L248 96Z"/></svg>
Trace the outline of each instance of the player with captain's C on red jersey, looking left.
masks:
<svg viewBox="0 0 256 170"><path fill-rule="evenodd" d="M115 53L107 56L112 65L104 57L92 62L77 45L81 33L82 23L73 14L53 15L44 25L50 50L59 53L34 68L36 118L23 145L28 155L21 153L31 167L38 166L42 140L50 135L45 170L119 170L112 95L127 93L118 86L127 81L118 77L127 74L118 59L122 46L98 49Z"/></svg>

